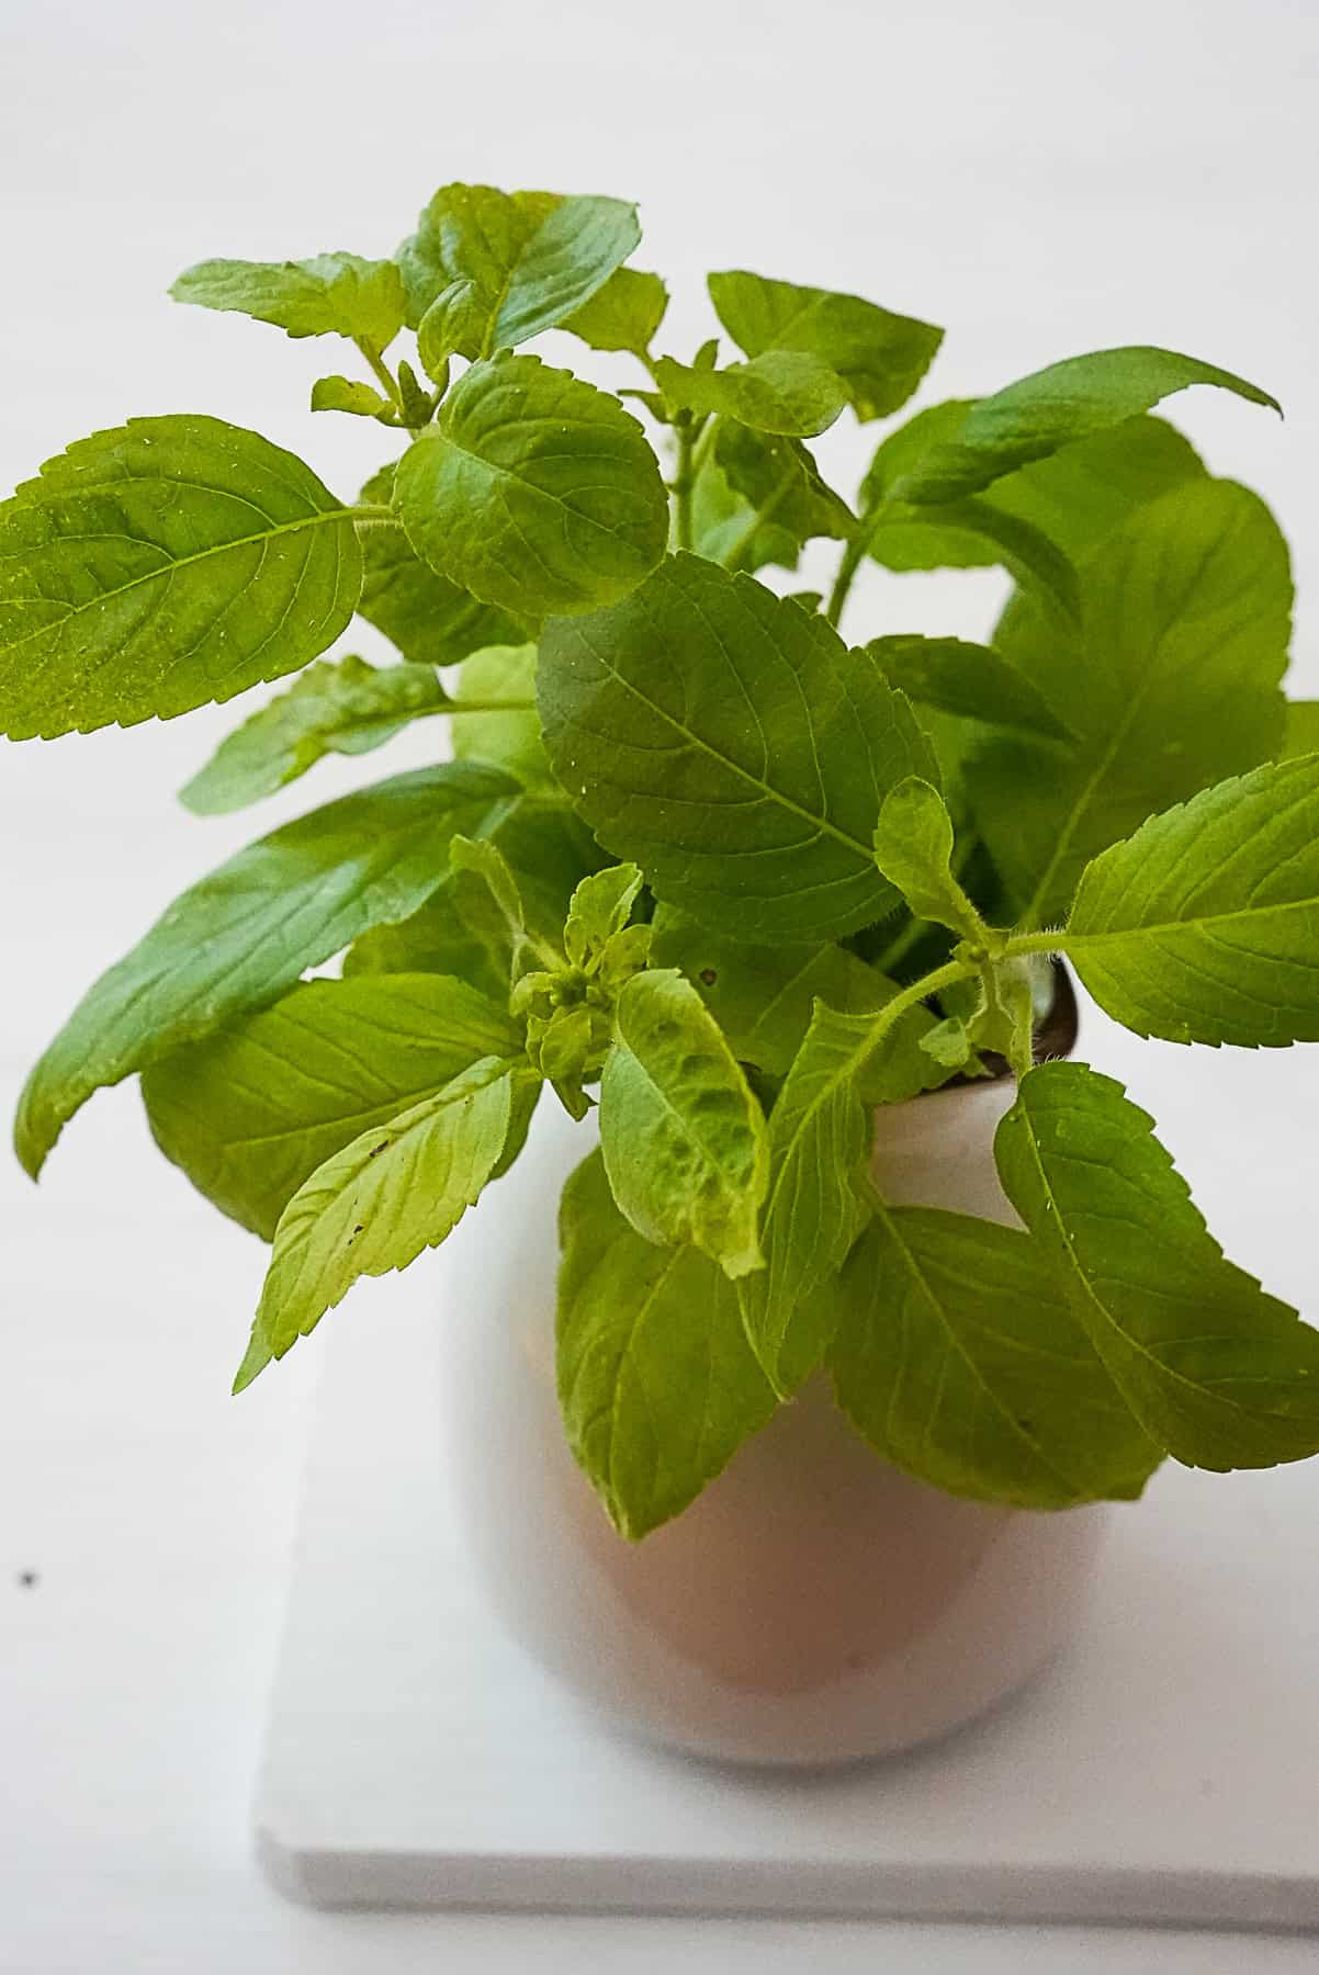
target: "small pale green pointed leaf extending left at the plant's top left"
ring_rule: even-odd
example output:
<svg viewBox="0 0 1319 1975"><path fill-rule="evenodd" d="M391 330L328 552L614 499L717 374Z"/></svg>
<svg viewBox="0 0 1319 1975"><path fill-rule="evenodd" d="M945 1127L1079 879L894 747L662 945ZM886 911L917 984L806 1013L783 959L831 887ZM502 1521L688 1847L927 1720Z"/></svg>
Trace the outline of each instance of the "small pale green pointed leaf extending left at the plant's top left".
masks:
<svg viewBox="0 0 1319 1975"><path fill-rule="evenodd" d="M314 261L197 261L170 288L176 302L227 308L286 336L348 336L385 350L403 328L393 261L322 253Z"/></svg>

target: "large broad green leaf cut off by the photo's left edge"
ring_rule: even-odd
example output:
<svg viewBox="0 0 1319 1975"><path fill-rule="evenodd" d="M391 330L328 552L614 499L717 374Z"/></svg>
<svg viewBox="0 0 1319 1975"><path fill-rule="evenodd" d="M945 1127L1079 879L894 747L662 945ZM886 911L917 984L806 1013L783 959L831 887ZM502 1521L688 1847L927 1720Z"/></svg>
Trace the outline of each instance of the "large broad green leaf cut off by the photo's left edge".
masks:
<svg viewBox="0 0 1319 1975"><path fill-rule="evenodd" d="M233 699L324 652L359 591L351 510L292 452L130 419L0 508L0 725L51 739Z"/></svg>

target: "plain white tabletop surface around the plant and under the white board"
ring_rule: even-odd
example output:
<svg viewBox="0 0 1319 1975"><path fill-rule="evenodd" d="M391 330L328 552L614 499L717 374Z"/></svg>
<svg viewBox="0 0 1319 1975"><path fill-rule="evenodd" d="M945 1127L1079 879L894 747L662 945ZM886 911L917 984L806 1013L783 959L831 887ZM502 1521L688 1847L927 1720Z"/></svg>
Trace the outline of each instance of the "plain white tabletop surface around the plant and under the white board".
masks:
<svg viewBox="0 0 1319 1975"><path fill-rule="evenodd" d="M648 221L642 265L687 284L679 352L705 326L699 271L733 263L952 324L940 395L1133 340L1272 387L1285 427L1208 395L1183 419L1289 529L1297 679L1319 691L1319 14L1110 0L1070 16L1039 0L6 0L0 478L128 413L201 409L348 490L381 434L302 411L340 356L174 310L174 273L209 253L385 251L446 178L626 192ZM995 581L875 575L861 610L875 628L975 630ZM190 822L172 790L229 719L4 747L6 1108L87 978L174 891L379 772L328 770L259 824ZM421 754L411 737L391 766ZM1139 1094L1238 1260L1319 1315L1295 1126L1319 1053L1147 1051ZM1280 1126L1299 1159L1280 1155ZM6 1975L555 1975L586 1955L624 1975L808 1957L821 1975L1313 1967L1297 1939L286 1906L251 1862L249 1797L316 1351L227 1398L259 1274L259 1246L154 1157L132 1090L93 1102L39 1191L0 1165Z"/></svg>

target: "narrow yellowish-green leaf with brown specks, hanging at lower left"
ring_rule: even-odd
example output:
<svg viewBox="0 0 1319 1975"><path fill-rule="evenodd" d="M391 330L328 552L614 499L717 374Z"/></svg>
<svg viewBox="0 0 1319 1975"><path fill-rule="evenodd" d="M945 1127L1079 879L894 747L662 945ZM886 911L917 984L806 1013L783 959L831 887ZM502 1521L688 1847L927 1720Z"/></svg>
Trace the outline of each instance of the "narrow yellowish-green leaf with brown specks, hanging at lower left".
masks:
<svg viewBox="0 0 1319 1975"><path fill-rule="evenodd" d="M274 1230L253 1325L259 1353L284 1357L359 1276L407 1268L452 1234L504 1155L513 1084L529 1076L486 1057L316 1167ZM247 1361L235 1390L255 1377L245 1373Z"/></svg>

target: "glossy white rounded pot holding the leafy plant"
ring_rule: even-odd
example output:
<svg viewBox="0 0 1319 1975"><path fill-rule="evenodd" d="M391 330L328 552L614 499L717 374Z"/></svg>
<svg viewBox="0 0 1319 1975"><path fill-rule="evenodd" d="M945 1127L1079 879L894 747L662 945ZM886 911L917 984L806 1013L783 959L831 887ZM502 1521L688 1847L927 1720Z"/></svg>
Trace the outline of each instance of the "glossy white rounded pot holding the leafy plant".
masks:
<svg viewBox="0 0 1319 1975"><path fill-rule="evenodd" d="M1013 1084L879 1112L894 1203L1015 1223L993 1167ZM620 1726L703 1756L835 1764L942 1734L1076 1631L1104 1505L960 1501L881 1462L823 1377L673 1523L608 1525L555 1396L557 1197L590 1149L549 1102L450 1238L446 1448L472 1560L513 1635Z"/></svg>

